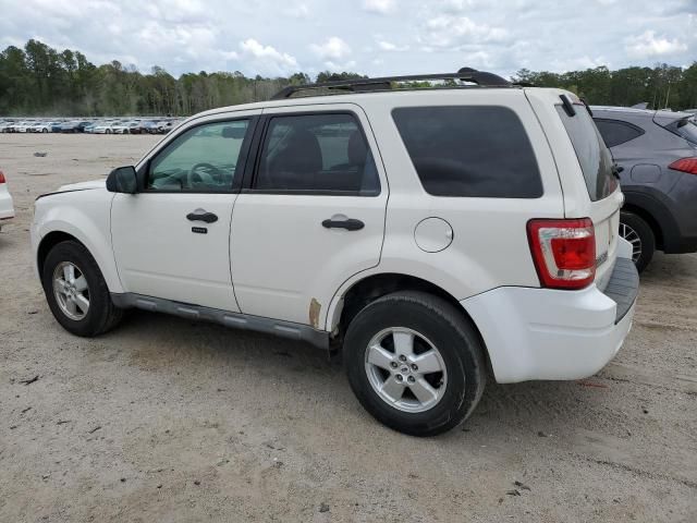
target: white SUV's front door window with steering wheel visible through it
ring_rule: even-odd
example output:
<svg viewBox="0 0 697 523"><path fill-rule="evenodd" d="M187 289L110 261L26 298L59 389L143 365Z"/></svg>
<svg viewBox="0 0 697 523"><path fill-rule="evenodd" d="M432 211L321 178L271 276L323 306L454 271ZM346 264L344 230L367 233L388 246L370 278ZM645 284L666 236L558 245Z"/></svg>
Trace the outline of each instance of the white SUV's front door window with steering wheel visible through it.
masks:
<svg viewBox="0 0 697 523"><path fill-rule="evenodd" d="M213 122L185 131L150 162L150 191L230 191L249 120Z"/></svg>

